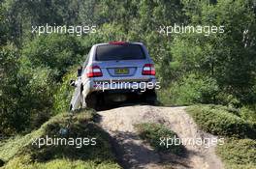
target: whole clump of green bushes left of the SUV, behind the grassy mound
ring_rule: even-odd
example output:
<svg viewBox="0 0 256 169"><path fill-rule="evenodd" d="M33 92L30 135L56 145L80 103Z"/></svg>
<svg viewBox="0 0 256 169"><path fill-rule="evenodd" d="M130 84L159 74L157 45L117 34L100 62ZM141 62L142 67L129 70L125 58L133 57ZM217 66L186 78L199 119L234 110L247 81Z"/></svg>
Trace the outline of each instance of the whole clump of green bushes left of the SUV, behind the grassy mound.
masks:
<svg viewBox="0 0 256 169"><path fill-rule="evenodd" d="M27 42L20 51L15 45L1 47L1 110L2 134L14 134L40 127L53 113L55 98L68 91L56 89L69 67L78 64L83 51L80 42L67 36L38 37ZM67 84L67 81L65 82ZM64 86L64 84L62 85ZM66 89L70 89L65 87ZM63 94L63 95L62 95ZM62 103L68 102L67 99ZM53 103L55 101L55 103ZM68 104L67 104L68 105ZM66 106L67 106L66 105ZM60 107L59 107L60 108ZM58 111L58 110L57 110ZM59 111L58 111L59 112Z"/></svg>

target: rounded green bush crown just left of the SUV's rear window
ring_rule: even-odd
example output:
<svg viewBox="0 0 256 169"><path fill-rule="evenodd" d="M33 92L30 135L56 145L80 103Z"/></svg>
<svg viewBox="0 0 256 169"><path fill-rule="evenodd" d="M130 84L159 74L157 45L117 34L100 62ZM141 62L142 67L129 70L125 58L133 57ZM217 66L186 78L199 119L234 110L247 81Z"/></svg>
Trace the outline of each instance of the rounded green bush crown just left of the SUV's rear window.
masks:
<svg viewBox="0 0 256 169"><path fill-rule="evenodd" d="M70 66L84 59L84 52L75 37L51 34L27 42L22 49L22 57L29 59L32 68L48 67L56 70L56 79L60 80Z"/></svg>

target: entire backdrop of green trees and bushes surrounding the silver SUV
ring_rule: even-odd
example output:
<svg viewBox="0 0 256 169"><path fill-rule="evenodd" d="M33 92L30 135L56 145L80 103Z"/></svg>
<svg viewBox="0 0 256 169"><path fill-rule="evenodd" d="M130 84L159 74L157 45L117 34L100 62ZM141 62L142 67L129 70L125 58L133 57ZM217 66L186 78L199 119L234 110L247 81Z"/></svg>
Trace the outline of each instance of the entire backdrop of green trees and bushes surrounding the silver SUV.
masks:
<svg viewBox="0 0 256 169"><path fill-rule="evenodd" d="M83 62L83 55L98 42L144 42L155 61L162 86L159 98L164 104L220 103L240 108L256 102L256 13L252 0L4 0L0 12L0 45L16 44L10 54L3 55L16 55L5 61L14 64L13 73L3 69L5 133L38 127L36 124L54 112L66 109L64 104L70 99L70 91L64 91L70 90L68 71ZM209 36L159 33L160 26L175 23L224 26L225 31ZM97 33L82 37L31 33L32 26L46 24L96 25ZM252 114L244 113L243 117Z"/></svg>

